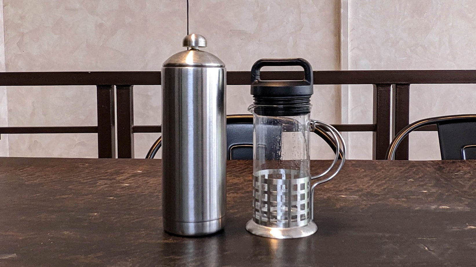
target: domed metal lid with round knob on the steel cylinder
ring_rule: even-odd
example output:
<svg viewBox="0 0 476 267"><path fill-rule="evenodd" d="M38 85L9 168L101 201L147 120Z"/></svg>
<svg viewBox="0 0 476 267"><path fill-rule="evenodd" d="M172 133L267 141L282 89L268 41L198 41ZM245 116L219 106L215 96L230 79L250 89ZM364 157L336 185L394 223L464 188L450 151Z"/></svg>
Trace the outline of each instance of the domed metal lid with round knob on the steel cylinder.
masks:
<svg viewBox="0 0 476 267"><path fill-rule="evenodd" d="M183 38L183 46L190 48L169 57L163 67L225 67L218 57L198 48L207 47L207 40L199 34L189 34Z"/></svg>

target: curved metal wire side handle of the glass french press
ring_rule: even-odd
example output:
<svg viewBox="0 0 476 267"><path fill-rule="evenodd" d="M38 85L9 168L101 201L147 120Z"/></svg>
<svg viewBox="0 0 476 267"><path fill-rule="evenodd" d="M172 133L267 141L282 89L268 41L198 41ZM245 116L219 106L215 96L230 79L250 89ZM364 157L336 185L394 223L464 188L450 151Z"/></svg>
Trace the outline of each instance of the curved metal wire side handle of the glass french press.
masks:
<svg viewBox="0 0 476 267"><path fill-rule="evenodd" d="M334 173L332 173L326 179L317 181L317 182L312 184L312 187L311 187L311 201L309 203L309 208L311 210L311 214L310 214L311 219L314 219L314 189L316 188L316 186L318 184L325 183L325 182L331 180L332 178L334 178L337 175L337 173L342 169L342 166L344 165L344 162L346 161L346 150L347 150L346 149L346 143L344 142L344 138L342 138L342 135L339 133L339 131L337 131L336 128L334 128L334 126L332 126L330 124L327 124L327 123L324 123L324 122L321 122L321 121L311 120L311 130L314 131L314 129L316 128L316 124L319 124L319 125L323 126L325 129L327 129L329 131L329 133L332 135L332 137L334 138L334 141L335 141L334 143L336 143L336 157L334 158L334 161L329 166L329 168L327 168L326 171L322 172L319 175L311 176L311 180L323 177L328 172L330 172L330 170L332 170L332 168L334 168L334 166L336 165L337 160L339 159L340 144L342 144L342 160L340 161L340 164L337 166L337 169Z"/></svg>

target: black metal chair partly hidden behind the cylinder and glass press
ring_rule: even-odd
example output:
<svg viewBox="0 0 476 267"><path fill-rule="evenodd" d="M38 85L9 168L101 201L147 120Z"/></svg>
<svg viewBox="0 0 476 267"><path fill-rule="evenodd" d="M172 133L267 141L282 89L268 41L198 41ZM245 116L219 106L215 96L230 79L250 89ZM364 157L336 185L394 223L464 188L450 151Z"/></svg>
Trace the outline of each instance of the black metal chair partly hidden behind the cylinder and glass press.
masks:
<svg viewBox="0 0 476 267"><path fill-rule="evenodd" d="M316 126L314 131L331 149L336 152L336 140L324 129ZM153 159L162 146L162 137L159 137L149 149L146 159ZM253 115L237 114L227 115L227 160L252 160L253 159ZM342 159L342 151L339 151Z"/></svg>

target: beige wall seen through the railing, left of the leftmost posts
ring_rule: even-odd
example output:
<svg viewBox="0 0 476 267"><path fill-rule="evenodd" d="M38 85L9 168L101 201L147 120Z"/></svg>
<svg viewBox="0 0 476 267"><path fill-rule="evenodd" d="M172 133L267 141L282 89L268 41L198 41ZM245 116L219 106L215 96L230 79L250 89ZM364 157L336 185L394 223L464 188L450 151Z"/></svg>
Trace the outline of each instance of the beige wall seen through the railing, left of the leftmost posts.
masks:
<svg viewBox="0 0 476 267"><path fill-rule="evenodd" d="M98 124L96 86L10 86L8 100L10 126ZM97 157L98 154L96 134L11 134L9 137L10 156Z"/></svg>

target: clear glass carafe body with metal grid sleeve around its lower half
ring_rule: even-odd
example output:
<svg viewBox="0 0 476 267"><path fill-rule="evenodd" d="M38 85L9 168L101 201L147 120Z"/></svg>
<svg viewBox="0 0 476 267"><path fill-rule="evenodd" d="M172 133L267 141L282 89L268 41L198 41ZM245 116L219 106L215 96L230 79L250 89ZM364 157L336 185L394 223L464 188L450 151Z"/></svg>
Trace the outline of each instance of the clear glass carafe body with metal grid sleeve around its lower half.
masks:
<svg viewBox="0 0 476 267"><path fill-rule="evenodd" d="M310 220L309 114L253 113L253 221L267 227L305 226ZM258 112L255 112L258 111Z"/></svg>

